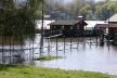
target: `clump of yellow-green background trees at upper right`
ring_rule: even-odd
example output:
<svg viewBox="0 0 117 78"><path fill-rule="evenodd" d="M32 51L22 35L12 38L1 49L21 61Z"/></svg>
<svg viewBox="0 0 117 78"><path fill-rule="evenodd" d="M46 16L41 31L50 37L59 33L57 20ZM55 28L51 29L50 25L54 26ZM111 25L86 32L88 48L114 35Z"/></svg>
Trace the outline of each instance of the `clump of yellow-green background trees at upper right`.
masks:
<svg viewBox="0 0 117 78"><path fill-rule="evenodd" d="M117 1L99 2L93 5L87 3L79 11L79 15L83 15L88 20L107 20L117 13Z"/></svg>

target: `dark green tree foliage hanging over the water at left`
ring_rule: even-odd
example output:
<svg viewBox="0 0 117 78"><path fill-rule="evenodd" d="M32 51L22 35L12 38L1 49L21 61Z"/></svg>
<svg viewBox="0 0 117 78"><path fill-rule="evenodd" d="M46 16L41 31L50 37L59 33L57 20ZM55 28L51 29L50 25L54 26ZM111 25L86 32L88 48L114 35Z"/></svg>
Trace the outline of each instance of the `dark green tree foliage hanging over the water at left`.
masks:
<svg viewBox="0 0 117 78"><path fill-rule="evenodd" d="M24 5L17 6L14 0L1 0L0 4L0 35L16 38L35 35L37 18L36 11L40 10L41 0L27 0Z"/></svg>

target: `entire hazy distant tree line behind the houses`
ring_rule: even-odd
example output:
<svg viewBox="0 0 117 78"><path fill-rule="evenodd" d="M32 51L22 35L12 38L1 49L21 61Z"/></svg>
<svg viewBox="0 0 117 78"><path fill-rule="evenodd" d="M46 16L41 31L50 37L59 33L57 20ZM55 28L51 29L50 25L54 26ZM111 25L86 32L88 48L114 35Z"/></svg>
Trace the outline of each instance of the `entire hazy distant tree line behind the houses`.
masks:
<svg viewBox="0 0 117 78"><path fill-rule="evenodd" d="M83 0L73 0L64 3L64 0L48 0L48 11L58 10L70 13L75 16L82 15L87 20L107 20L117 12L117 1L99 1L91 2Z"/></svg>

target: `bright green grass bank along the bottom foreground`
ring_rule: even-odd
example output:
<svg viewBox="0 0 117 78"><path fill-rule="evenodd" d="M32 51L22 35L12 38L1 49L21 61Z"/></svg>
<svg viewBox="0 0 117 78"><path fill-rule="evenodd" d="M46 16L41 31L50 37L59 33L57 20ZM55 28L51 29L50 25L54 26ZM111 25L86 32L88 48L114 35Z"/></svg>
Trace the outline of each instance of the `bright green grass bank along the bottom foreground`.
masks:
<svg viewBox="0 0 117 78"><path fill-rule="evenodd" d="M110 78L92 72L63 70L23 65L0 65L0 78Z"/></svg>

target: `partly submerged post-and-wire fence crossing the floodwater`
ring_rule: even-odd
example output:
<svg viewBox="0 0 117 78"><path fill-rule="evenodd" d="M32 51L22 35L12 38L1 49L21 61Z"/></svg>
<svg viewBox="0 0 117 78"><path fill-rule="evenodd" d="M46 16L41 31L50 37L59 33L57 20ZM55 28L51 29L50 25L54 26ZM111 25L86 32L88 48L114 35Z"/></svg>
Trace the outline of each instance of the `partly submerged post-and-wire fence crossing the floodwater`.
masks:
<svg viewBox="0 0 117 78"><path fill-rule="evenodd" d="M0 44L0 63L16 64L35 61L38 57L47 55L57 56L63 52L78 50L80 47L100 46L99 37L77 37L77 38L43 38L43 47L40 47L41 36L36 35L35 40L25 40L21 44ZM40 51L42 49L42 51Z"/></svg>

